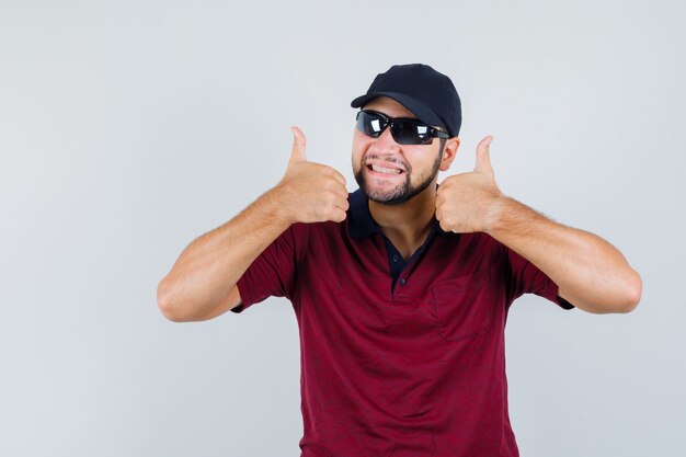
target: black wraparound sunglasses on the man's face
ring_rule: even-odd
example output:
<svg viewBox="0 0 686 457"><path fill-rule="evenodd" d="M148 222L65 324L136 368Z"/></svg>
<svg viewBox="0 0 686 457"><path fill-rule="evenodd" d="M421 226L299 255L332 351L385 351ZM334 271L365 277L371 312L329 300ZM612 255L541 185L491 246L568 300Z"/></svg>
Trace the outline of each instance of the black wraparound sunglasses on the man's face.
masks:
<svg viewBox="0 0 686 457"><path fill-rule="evenodd" d="M357 113L356 127L371 138L378 138L386 127L399 145L431 145L434 138L450 138L437 128L426 125L419 119L409 117L388 117L376 111L362 110Z"/></svg>

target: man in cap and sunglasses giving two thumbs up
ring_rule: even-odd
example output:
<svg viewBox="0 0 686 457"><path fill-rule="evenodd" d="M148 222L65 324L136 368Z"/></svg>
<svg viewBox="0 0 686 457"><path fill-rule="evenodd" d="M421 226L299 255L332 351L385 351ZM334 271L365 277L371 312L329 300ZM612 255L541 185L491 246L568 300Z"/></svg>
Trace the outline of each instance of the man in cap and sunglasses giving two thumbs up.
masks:
<svg viewBox="0 0 686 457"><path fill-rule="evenodd" d="M560 307L628 312L641 279L603 239L503 195L477 146L472 172L437 185L455 159L451 81L393 66L365 95L353 139L359 190L307 161L195 240L158 289L174 321L241 312L285 296L296 312L308 457L517 456L507 413L504 328L534 293Z"/></svg>

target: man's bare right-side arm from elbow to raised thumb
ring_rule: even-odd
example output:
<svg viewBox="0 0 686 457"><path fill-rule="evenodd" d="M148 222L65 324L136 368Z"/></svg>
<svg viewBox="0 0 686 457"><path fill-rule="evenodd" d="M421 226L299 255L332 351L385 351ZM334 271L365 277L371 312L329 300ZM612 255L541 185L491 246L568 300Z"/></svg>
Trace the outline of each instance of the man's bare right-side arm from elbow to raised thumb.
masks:
<svg viewBox="0 0 686 457"><path fill-rule="evenodd" d="M641 277L604 239L561 226L505 196L489 157L492 137L477 146L472 172L447 178L436 195L444 230L483 231L512 249L558 285L558 295L595 313L629 312L641 298Z"/></svg>

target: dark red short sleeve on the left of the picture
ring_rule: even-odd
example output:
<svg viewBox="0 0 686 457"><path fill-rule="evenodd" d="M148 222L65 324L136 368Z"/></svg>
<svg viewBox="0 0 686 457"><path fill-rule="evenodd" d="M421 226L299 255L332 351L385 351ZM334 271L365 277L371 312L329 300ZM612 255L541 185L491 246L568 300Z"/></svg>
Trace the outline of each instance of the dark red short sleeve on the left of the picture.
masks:
<svg viewBox="0 0 686 457"><path fill-rule="evenodd" d="M268 297L291 299L296 272L296 228L290 226L278 236L238 279L241 304L231 308L242 312Z"/></svg>

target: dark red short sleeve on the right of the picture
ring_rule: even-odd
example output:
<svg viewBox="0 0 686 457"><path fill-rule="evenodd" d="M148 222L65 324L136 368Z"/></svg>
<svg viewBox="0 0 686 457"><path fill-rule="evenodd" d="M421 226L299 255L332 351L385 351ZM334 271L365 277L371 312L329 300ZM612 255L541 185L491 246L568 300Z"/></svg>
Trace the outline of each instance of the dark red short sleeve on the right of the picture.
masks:
<svg viewBox="0 0 686 457"><path fill-rule="evenodd" d="M512 249L505 245L503 248L507 253L510 265L508 302L523 294L536 294L563 309L574 308L572 304L558 296L558 285L548 275Z"/></svg>

